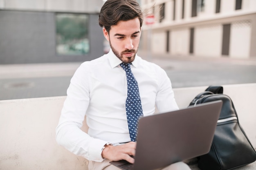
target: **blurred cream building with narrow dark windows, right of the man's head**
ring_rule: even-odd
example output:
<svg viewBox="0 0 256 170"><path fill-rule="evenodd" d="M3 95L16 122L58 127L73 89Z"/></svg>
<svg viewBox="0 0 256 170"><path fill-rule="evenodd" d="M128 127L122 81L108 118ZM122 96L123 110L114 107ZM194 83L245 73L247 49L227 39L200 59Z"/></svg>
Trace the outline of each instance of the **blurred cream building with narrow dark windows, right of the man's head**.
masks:
<svg viewBox="0 0 256 170"><path fill-rule="evenodd" d="M200 57L256 56L256 0L141 0L143 10L153 5L143 26L143 50Z"/></svg>

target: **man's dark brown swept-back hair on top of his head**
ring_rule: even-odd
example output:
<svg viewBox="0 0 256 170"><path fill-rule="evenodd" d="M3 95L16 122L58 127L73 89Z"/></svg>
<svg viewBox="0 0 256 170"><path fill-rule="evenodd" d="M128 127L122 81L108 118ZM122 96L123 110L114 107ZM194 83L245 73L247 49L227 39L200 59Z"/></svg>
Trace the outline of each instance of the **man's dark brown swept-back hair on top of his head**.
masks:
<svg viewBox="0 0 256 170"><path fill-rule="evenodd" d="M143 22L143 13L137 0L107 0L99 13L99 25L110 31L112 25L119 21L128 21L138 17L140 27Z"/></svg>

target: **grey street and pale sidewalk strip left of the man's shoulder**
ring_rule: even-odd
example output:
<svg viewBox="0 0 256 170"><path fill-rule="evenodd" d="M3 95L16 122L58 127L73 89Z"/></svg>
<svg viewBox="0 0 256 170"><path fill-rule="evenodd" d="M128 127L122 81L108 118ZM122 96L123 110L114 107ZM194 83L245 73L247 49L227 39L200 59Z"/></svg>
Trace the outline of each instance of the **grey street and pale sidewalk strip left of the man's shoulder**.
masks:
<svg viewBox="0 0 256 170"><path fill-rule="evenodd" d="M81 63L0 65L0 100L66 95Z"/></svg>

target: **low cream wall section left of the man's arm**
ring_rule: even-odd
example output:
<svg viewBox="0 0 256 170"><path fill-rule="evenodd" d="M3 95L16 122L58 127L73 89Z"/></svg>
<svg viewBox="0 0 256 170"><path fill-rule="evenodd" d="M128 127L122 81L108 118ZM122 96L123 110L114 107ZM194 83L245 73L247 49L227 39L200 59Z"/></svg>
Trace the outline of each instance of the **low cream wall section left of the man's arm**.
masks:
<svg viewBox="0 0 256 170"><path fill-rule="evenodd" d="M75 156L56 143L55 128L64 99L0 101L0 169L88 169L86 159Z"/></svg>

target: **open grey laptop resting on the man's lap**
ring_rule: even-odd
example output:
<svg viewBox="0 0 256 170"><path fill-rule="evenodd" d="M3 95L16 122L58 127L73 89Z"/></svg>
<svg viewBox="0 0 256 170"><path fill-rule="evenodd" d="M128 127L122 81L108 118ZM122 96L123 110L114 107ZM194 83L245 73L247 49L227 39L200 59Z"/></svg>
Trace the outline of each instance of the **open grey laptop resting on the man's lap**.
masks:
<svg viewBox="0 0 256 170"><path fill-rule="evenodd" d="M110 163L123 170L153 170L208 153L221 107L218 100L141 117L135 163Z"/></svg>

